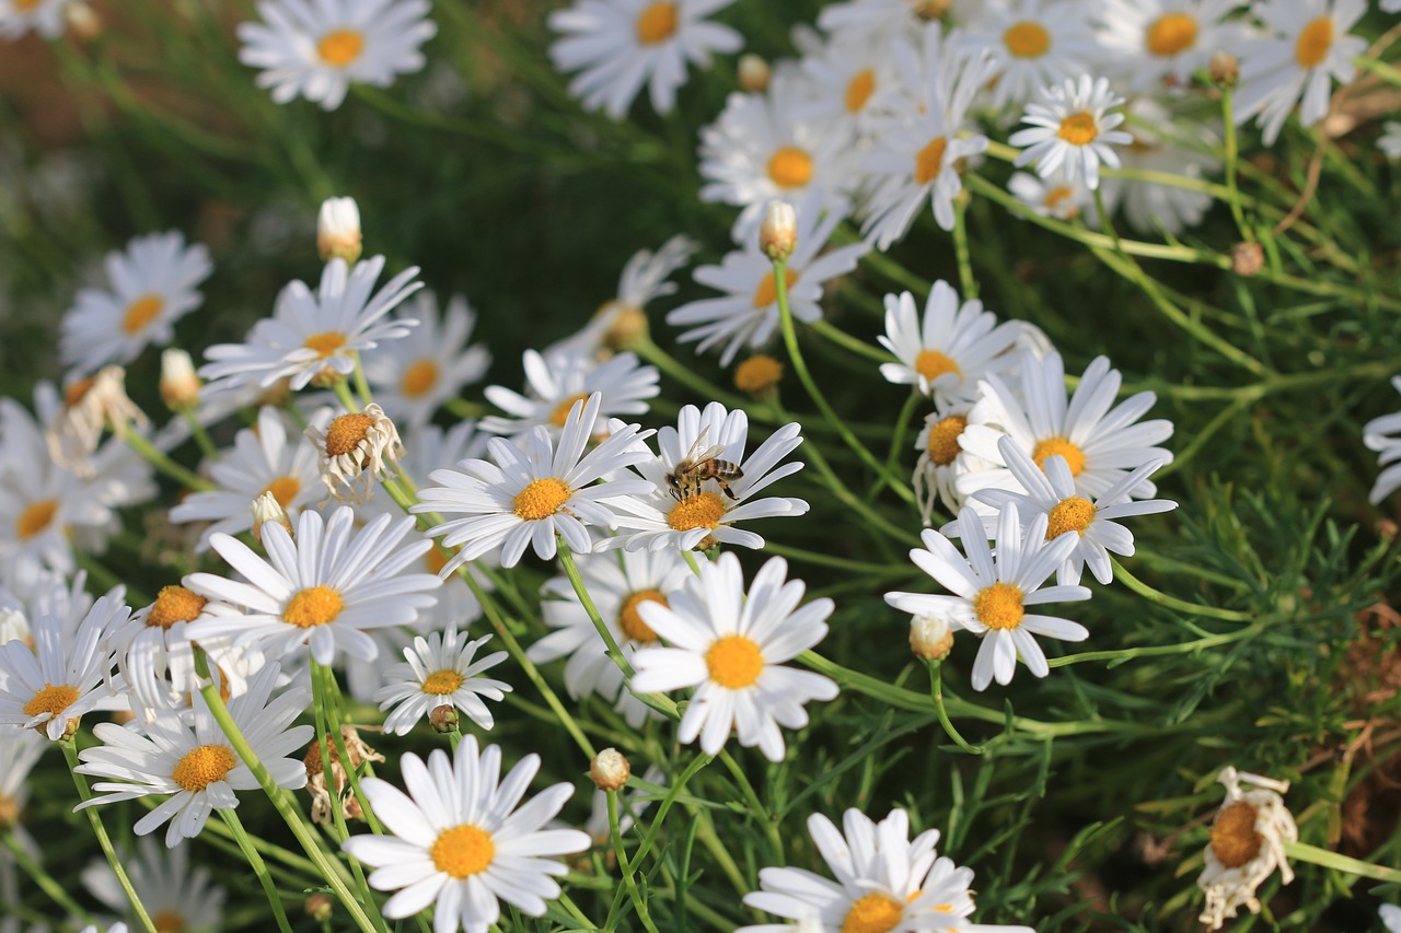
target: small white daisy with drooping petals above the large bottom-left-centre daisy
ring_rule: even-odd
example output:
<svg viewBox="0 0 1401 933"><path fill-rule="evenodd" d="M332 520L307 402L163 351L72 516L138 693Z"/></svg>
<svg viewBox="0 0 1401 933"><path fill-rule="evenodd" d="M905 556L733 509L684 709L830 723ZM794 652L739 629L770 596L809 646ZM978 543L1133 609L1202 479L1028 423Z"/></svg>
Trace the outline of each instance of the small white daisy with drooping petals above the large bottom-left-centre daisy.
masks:
<svg viewBox="0 0 1401 933"><path fill-rule="evenodd" d="M403 649L408 663L391 667L385 672L388 684L374 693L380 709L394 707L384 720L384 730L406 735L439 706L455 706L478 728L490 728L495 720L482 698L500 700L511 691L504 681L481 677L486 668L504 661L506 651L493 651L474 661L476 650L490 640L488 635L464 643L455 625L441 633L413 639L413 647Z"/></svg>

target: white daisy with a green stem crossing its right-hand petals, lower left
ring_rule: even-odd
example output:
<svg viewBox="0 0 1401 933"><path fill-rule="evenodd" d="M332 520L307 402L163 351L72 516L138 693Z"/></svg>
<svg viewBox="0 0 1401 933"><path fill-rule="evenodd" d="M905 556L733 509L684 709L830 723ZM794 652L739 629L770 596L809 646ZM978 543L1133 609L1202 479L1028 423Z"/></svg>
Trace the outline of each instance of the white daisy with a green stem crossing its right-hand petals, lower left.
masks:
<svg viewBox="0 0 1401 933"><path fill-rule="evenodd" d="M273 698L280 672L277 664L266 665L247 693L228 700L228 712L273 782L296 790L307 783L307 766L296 752L315 730L291 723L311 703L311 691L291 686ZM161 712L144 726L94 726L102 744L80 751L83 763L76 770L111 780L95 782L98 796L74 810L161 794L165 800L137 820L133 831L144 836L170 822L165 845L174 849L200 834L212 810L237 807L234 792L256 790L258 779L228 745L203 695L195 693L191 702L192 712Z"/></svg>

